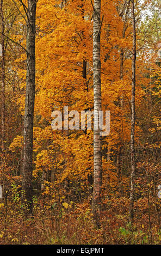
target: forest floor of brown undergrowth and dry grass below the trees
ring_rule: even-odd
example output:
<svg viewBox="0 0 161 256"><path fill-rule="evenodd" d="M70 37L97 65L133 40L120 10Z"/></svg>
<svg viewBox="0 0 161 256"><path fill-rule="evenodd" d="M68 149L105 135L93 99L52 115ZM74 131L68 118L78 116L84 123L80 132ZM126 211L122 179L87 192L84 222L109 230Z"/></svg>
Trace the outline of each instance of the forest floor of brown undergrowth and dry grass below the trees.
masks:
<svg viewBox="0 0 161 256"><path fill-rule="evenodd" d="M133 228L129 223L129 200L104 200L101 228L92 221L89 202L51 205L47 198L35 200L34 216L24 218L20 202L1 203L0 244L2 245L128 245L160 244L159 216L155 205L149 211L146 200L134 208Z"/></svg>

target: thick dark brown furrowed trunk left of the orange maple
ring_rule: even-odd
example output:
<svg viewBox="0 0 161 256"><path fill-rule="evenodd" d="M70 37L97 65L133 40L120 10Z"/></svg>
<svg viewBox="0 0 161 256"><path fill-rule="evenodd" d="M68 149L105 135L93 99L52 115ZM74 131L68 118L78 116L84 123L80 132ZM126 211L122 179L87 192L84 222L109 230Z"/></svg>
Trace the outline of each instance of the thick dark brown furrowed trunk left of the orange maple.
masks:
<svg viewBox="0 0 161 256"><path fill-rule="evenodd" d="M35 15L36 1L28 0L27 20L27 74L26 100L24 109L24 143L22 190L24 212L32 214L32 173L33 173L33 120L35 101Z"/></svg>

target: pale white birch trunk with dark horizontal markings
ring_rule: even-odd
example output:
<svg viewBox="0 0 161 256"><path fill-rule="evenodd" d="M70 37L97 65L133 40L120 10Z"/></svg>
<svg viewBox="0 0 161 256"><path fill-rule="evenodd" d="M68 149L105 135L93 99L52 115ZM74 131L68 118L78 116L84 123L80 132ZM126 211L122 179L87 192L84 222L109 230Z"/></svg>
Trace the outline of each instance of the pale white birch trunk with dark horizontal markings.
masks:
<svg viewBox="0 0 161 256"><path fill-rule="evenodd" d="M92 213L99 227L99 212L102 185L101 136L97 114L101 111L101 0L94 0L94 35L93 35L93 69L94 69L94 191L92 196Z"/></svg>

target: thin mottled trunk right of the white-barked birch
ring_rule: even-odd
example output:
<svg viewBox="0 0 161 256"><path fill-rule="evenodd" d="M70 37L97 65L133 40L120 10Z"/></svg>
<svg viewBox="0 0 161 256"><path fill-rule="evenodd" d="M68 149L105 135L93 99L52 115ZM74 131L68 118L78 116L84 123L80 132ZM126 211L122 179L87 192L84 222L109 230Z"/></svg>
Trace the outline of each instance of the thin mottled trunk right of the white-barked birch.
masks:
<svg viewBox="0 0 161 256"><path fill-rule="evenodd" d="M136 62L136 29L134 0L132 0L132 17L133 17L133 57L132 57L132 102L131 102L131 192L130 192L130 220L133 223L134 208L134 177L135 177L135 159L134 159L134 135L135 135L135 62Z"/></svg>

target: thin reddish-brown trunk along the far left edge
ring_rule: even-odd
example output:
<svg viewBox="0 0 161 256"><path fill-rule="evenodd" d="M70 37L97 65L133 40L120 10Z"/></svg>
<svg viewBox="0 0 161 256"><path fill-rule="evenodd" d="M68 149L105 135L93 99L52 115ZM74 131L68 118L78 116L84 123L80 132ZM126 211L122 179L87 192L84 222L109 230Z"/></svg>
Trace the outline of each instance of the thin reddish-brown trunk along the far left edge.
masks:
<svg viewBox="0 0 161 256"><path fill-rule="evenodd" d="M2 151L4 148L4 129L5 129L5 63L4 63L4 16L3 16L3 0L1 0L1 45L2 45L2 88L1 88L1 121L2 121Z"/></svg>

